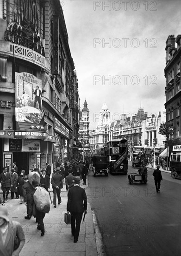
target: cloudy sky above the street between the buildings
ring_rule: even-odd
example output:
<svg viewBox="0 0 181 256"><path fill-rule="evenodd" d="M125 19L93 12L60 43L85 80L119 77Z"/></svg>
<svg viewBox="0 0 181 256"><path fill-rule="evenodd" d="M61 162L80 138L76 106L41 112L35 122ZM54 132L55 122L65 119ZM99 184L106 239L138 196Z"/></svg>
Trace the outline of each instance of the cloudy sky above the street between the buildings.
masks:
<svg viewBox="0 0 181 256"><path fill-rule="evenodd" d="M106 101L113 117L164 110L166 40L181 34L181 1L60 1L90 130ZM115 113L118 113L117 115Z"/></svg>

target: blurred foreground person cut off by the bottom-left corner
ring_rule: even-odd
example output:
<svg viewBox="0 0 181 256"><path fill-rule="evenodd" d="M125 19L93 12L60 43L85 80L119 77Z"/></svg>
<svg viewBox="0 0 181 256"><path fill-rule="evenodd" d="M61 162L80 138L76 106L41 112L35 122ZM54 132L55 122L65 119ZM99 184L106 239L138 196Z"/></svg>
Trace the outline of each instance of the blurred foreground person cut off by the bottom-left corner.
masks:
<svg viewBox="0 0 181 256"><path fill-rule="evenodd" d="M0 255L19 256L25 244L25 234L21 224L11 221L6 206L0 205Z"/></svg>

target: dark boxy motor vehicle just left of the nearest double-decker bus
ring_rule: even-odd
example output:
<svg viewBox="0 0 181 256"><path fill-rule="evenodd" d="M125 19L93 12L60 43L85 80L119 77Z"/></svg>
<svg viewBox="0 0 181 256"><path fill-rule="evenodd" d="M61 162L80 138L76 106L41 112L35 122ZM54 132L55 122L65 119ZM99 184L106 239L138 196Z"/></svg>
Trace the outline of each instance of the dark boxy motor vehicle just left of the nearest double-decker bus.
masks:
<svg viewBox="0 0 181 256"><path fill-rule="evenodd" d="M97 174L102 175L103 173L108 176L108 168L106 163L106 156L93 156L93 172L94 177Z"/></svg>

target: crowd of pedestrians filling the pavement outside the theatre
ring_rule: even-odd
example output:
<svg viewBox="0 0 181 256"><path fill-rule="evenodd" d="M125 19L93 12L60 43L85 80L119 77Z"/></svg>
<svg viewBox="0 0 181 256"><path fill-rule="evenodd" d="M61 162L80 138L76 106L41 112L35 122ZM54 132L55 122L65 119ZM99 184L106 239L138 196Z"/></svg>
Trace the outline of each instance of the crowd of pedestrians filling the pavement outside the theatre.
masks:
<svg viewBox="0 0 181 256"><path fill-rule="evenodd" d="M79 237L82 215L87 213L87 196L85 189L80 187L80 183L82 180L82 184L86 185L88 169L88 161L70 161L64 164L58 160L50 179L51 166L48 163L46 163L46 168L41 171L34 165L28 175L26 175L25 170L18 172L16 163L13 163L10 172L7 172L7 168L4 167L0 174L3 192L3 201L0 198L0 255L18 256L25 244L25 235L21 224L8 218L6 201L9 193L11 192L11 200L20 198L19 204L25 203L27 212L25 219L30 220L32 216L35 217L37 229L41 231L41 236L44 236L44 216L50 211L50 183L53 189L54 208L56 208L56 197L58 204L62 202L61 189L63 184L66 185L67 213L71 214L71 232L74 236L74 243L76 243ZM14 234L10 240L7 240L8 232L11 232L12 227L15 230ZM18 243L16 240L18 240Z"/></svg>

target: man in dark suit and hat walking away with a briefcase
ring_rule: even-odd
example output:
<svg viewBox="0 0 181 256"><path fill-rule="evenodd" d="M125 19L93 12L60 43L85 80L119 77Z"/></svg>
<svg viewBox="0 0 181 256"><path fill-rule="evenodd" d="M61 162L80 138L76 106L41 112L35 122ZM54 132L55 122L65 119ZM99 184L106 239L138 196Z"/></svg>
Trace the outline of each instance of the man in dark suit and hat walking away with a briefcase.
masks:
<svg viewBox="0 0 181 256"><path fill-rule="evenodd" d="M83 212L87 213L87 195L85 189L80 187L81 179L79 176L75 176L73 182L75 182L75 186L69 189L67 213L71 213L72 235L74 236L74 243L77 243L82 215Z"/></svg>

